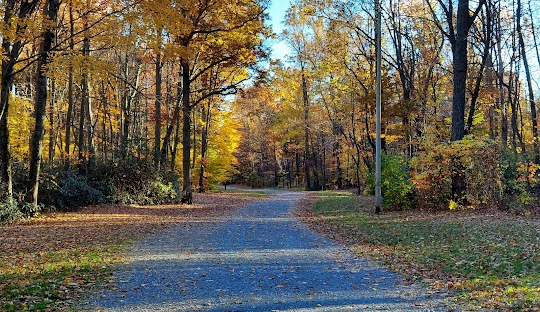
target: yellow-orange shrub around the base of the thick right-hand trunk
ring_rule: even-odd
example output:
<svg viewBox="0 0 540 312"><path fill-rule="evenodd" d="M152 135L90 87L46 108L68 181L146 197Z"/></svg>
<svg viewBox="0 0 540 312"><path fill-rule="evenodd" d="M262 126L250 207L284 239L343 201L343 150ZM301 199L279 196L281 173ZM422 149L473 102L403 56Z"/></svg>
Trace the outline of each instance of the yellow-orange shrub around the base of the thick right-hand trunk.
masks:
<svg viewBox="0 0 540 312"><path fill-rule="evenodd" d="M503 171L499 143L466 136L463 140L431 146L411 162L418 201L425 208L498 207L502 200ZM452 172L461 170L462 198L452 197Z"/></svg>

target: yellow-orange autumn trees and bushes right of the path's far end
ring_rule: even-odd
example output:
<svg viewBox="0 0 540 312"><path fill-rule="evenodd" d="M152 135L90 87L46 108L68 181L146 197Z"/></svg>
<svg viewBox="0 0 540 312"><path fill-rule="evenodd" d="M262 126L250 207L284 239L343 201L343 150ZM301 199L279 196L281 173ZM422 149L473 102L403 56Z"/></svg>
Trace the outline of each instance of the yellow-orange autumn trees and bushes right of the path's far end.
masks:
<svg viewBox="0 0 540 312"><path fill-rule="evenodd" d="M536 8L528 4L383 3L388 207L536 210L536 90L528 88L523 67L531 67L537 32L534 22L514 18L534 21ZM238 181L372 191L372 9L340 0L293 1L282 32L288 59L271 62L270 74L236 100L244 133Z"/></svg>

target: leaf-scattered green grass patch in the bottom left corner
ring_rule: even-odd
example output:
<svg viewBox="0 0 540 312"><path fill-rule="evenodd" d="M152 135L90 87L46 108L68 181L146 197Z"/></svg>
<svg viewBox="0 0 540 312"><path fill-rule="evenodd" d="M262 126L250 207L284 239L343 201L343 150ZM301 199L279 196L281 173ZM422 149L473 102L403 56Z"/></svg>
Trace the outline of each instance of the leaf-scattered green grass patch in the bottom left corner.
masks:
<svg viewBox="0 0 540 312"><path fill-rule="evenodd" d="M71 306L92 286L103 284L124 248L118 243L18 255L1 270L0 310L56 311Z"/></svg>

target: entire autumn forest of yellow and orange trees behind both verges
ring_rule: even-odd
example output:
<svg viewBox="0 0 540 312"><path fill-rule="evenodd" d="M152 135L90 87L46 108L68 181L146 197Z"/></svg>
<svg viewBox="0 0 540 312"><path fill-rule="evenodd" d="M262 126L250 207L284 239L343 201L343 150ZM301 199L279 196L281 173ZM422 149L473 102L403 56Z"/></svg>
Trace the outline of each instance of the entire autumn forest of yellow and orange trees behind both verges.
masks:
<svg viewBox="0 0 540 312"><path fill-rule="evenodd" d="M293 0L279 34L268 6L2 1L0 221L226 183L373 192L375 3ZM385 209L536 210L538 9L382 1Z"/></svg>

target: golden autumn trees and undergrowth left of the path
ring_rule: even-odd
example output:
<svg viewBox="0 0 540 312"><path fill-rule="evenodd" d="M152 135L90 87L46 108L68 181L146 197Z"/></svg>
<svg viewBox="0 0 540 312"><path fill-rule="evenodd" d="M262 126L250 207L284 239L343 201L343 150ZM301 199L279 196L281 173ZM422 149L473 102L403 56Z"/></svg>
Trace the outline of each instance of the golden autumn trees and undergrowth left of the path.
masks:
<svg viewBox="0 0 540 312"><path fill-rule="evenodd" d="M265 56L265 1L4 1L0 206L191 203L231 179L225 96Z"/></svg>

